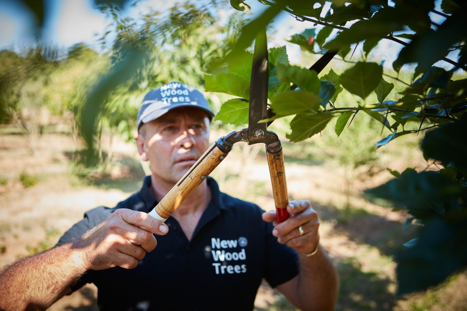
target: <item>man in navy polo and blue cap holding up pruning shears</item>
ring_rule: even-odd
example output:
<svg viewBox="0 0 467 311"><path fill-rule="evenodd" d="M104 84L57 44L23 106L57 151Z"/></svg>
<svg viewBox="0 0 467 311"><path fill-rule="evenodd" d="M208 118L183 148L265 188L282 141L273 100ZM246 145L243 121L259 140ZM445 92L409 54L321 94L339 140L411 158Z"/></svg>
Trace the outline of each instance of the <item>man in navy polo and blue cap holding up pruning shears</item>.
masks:
<svg viewBox="0 0 467 311"><path fill-rule="evenodd" d="M299 309L333 310L337 275L308 201L290 202L291 217L277 224L275 212L208 177L165 224L147 214L209 147L212 116L187 85L148 92L136 136L151 169L141 191L86 212L56 247L5 269L0 309L45 309L94 283L101 310L252 310L265 278Z"/></svg>

